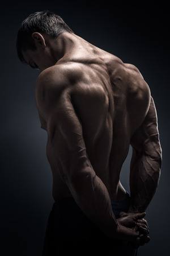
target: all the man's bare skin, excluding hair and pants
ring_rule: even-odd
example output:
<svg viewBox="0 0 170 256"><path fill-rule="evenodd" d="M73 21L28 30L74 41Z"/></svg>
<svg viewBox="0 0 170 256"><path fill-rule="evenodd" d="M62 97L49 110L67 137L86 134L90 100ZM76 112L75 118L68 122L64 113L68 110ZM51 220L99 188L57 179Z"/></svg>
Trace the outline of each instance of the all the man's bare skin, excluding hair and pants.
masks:
<svg viewBox="0 0 170 256"><path fill-rule="evenodd" d="M136 67L75 34L32 37L37 49L23 55L42 71L36 105L48 133L54 200L73 196L107 236L139 241L142 234L141 243L147 242L143 212L158 186L162 159L148 85ZM111 200L125 199L120 172L130 144L131 205L116 220Z"/></svg>

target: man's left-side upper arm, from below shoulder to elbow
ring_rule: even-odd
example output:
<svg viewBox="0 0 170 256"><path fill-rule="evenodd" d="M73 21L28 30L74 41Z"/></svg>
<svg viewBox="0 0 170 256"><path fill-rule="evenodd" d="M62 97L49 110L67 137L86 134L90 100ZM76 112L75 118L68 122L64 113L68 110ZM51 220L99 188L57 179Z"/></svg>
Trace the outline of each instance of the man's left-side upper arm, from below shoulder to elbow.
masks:
<svg viewBox="0 0 170 256"><path fill-rule="evenodd" d="M68 81L49 79L37 81L40 87L37 96L39 111L44 114L48 140L56 156L59 172L65 181L74 179L90 170L86 154L82 125L71 102L71 90ZM67 84L67 86L66 86Z"/></svg>

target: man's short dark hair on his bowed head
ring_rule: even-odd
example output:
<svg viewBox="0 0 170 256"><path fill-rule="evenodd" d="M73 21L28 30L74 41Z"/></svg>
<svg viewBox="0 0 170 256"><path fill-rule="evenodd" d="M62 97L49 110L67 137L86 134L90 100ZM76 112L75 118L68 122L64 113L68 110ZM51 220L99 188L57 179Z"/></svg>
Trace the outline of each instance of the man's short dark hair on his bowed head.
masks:
<svg viewBox="0 0 170 256"><path fill-rule="evenodd" d="M48 10L30 14L28 18L23 20L18 30L16 49L20 61L25 63L22 51L36 49L32 39L33 32L44 32L45 34L52 36L52 38L57 38L57 36L64 31L74 33L57 14L51 13Z"/></svg>

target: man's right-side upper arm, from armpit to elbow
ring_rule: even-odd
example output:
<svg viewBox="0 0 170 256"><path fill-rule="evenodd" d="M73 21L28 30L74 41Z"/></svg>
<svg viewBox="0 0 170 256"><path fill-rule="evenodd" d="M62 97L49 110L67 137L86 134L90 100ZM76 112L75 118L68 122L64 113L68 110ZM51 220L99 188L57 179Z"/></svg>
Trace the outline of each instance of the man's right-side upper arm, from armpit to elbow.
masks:
<svg viewBox="0 0 170 256"><path fill-rule="evenodd" d="M159 141L158 118L152 97L145 120L131 137L131 146L137 155L142 152L152 159L161 160L162 150Z"/></svg>

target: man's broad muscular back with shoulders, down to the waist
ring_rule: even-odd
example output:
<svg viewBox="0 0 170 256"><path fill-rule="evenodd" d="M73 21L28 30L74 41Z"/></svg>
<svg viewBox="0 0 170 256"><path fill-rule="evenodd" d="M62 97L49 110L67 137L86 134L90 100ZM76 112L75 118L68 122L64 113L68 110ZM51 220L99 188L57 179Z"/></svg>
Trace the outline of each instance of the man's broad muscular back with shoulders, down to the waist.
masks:
<svg viewBox="0 0 170 256"><path fill-rule="evenodd" d="M89 164L107 187L111 199L121 199L124 195L119 181L121 167L130 139L141 126L150 104L150 91L138 69L96 47L90 46L88 51L83 48L69 60L63 58L41 73L36 103L41 126L50 137L47 155L53 171L54 199L70 195L65 184L67 177L61 171L63 162L57 162L57 153L62 155L62 161L70 159L70 155L60 142L56 154L52 150L53 143L57 144L54 133L63 133L65 141L74 139L76 134L70 142L70 154L71 150L77 151L75 154L86 150ZM67 119L73 124L67 123ZM69 129L75 129L74 135ZM76 145L77 137L78 141L83 140L83 146ZM74 168L78 167L75 164Z"/></svg>

